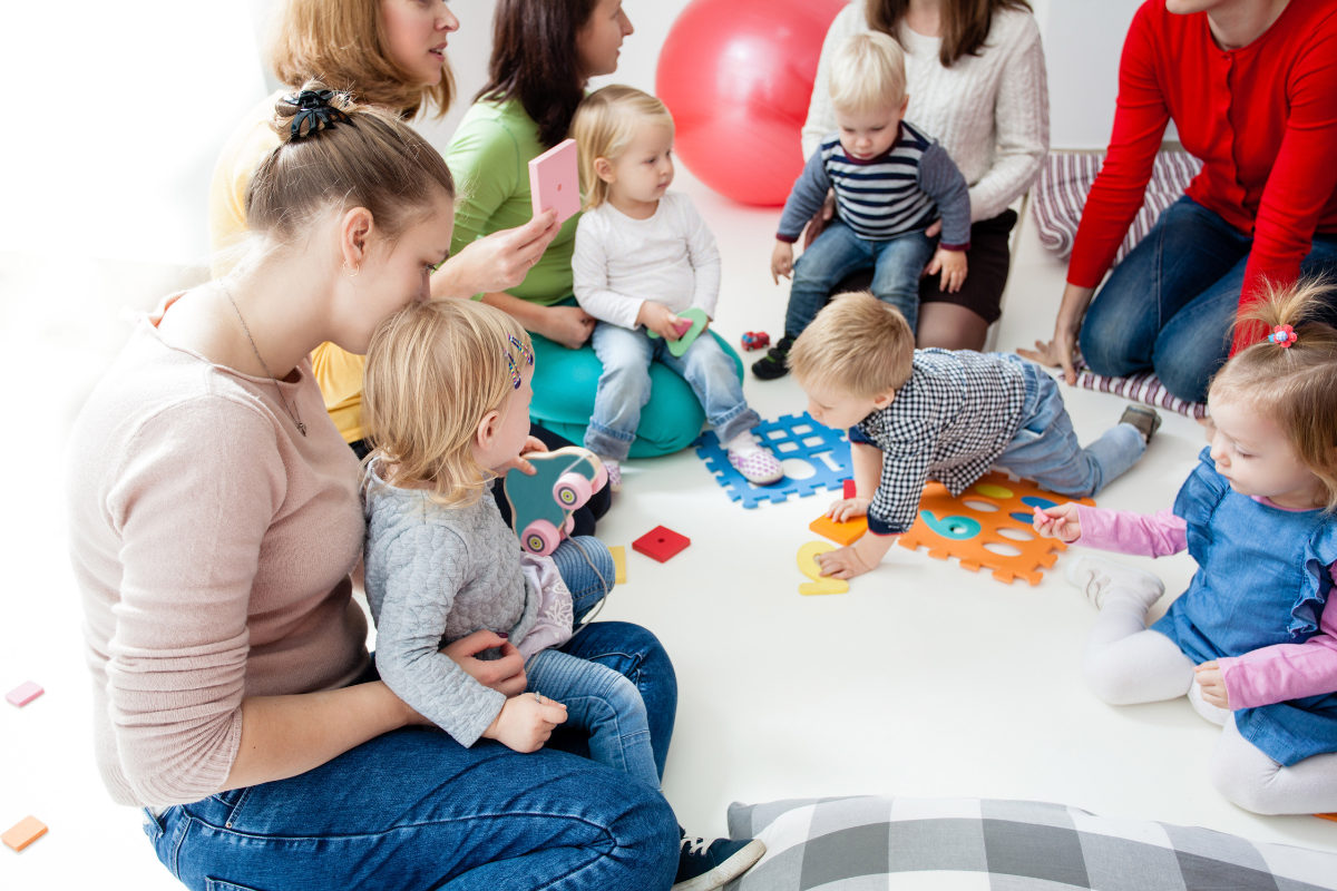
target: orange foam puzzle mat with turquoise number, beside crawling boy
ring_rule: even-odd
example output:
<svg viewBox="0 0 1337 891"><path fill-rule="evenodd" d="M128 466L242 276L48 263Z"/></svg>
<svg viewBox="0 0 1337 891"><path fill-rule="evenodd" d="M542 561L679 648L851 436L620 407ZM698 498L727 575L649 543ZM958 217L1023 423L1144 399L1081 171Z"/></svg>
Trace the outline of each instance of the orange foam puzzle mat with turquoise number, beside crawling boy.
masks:
<svg viewBox="0 0 1337 891"><path fill-rule="evenodd" d="M1025 578L1039 585L1044 577L1040 570L1052 566L1067 545L1058 538L1042 538L1031 528L1036 501L1095 506L1090 498L1046 492L1029 480L1008 480L1004 473L980 477L959 498L943 484L931 482L924 486L919 517L900 544L910 550L928 548L928 556L936 560L956 557L971 572L992 569L993 577L1005 584ZM1000 530L1009 530L1011 536Z"/></svg>

